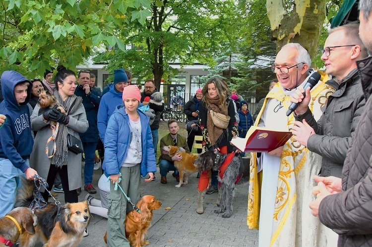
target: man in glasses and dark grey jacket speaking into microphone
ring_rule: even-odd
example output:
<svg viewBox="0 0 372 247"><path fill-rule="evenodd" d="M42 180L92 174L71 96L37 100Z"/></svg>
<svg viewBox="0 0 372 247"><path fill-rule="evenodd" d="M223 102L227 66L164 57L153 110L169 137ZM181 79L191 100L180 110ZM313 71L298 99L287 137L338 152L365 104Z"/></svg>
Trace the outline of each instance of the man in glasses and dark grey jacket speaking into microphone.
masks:
<svg viewBox="0 0 372 247"><path fill-rule="evenodd" d="M336 91L329 96L321 118L316 122L308 107L303 89L291 99L301 102L295 110L292 133L296 141L322 156L320 176L341 178L346 153L352 143L351 136L364 110L365 97L357 70L356 60L367 56L367 49L359 38L359 24L349 24L328 31L321 59L326 73L332 76L327 84ZM355 45L342 45L342 44ZM305 121L304 121L305 120ZM316 174L315 174L316 175ZM327 243L337 244L338 235L326 229Z"/></svg>

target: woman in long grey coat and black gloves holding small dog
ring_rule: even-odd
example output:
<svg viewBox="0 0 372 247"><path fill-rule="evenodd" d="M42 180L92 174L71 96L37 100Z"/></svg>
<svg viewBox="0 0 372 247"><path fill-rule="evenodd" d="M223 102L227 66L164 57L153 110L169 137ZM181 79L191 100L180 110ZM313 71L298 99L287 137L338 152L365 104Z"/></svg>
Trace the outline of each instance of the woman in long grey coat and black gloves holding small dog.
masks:
<svg viewBox="0 0 372 247"><path fill-rule="evenodd" d="M31 115L31 129L37 131L38 134L30 156L30 166L41 171L39 175L47 180L49 191L53 187L56 174L59 173L64 191L64 201L66 203L77 202L76 189L81 187L81 154L75 154L68 150L67 134L80 139L78 132L84 133L88 129L88 121L81 97L74 95L75 73L62 65L58 66L57 71L54 79L56 90L53 93L67 115L56 108L35 106ZM59 123L57 137L51 141L49 139L52 137L52 127L49 121ZM46 153L47 142L48 153ZM54 150L54 143L57 147L56 150ZM41 194L48 201L48 192L44 191Z"/></svg>

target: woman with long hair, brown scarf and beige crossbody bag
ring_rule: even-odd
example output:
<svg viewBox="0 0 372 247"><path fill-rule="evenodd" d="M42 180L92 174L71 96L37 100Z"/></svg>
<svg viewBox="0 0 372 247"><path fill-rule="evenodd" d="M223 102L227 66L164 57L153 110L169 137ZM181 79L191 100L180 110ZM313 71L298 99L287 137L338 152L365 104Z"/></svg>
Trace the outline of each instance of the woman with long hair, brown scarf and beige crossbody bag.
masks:
<svg viewBox="0 0 372 247"><path fill-rule="evenodd" d="M234 102L228 98L228 93L229 89L226 82L218 77L210 78L202 89L203 100L199 106L199 121L204 139L203 146L205 146L206 150L218 150L220 153L225 154L236 150L230 144L230 141L238 133L238 124L235 119ZM230 116L229 125L226 129L220 129L213 124L210 110ZM196 212L198 214L204 212L203 202L210 177L212 177L212 183L208 191L217 191L217 175L217 171L204 171L200 175L197 188L198 201Z"/></svg>

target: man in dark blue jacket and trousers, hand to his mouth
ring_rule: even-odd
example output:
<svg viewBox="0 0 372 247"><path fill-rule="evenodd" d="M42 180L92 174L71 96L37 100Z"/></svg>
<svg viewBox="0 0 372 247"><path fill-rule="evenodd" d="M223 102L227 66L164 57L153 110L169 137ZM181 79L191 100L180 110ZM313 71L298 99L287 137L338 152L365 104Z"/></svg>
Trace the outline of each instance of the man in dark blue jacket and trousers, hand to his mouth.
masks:
<svg viewBox="0 0 372 247"><path fill-rule="evenodd" d="M79 85L76 87L75 95L83 99L86 118L89 127L85 133L79 133L81 142L84 148L85 164L84 164L84 190L89 194L96 194L97 191L92 186L93 168L94 168L94 155L98 143L98 128L97 128L97 115L98 108L101 102L101 95L92 90L89 86L90 71L80 70L77 75L77 82ZM78 192L79 193L79 192Z"/></svg>

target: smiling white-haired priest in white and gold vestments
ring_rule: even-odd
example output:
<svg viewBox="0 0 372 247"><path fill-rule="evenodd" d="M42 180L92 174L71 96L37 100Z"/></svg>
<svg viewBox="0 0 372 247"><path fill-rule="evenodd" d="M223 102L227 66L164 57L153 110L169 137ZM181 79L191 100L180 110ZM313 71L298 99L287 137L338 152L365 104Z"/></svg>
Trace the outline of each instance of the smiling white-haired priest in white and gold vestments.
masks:
<svg viewBox="0 0 372 247"><path fill-rule="evenodd" d="M286 112L291 95L314 73L310 64L309 53L299 44L287 44L278 52L272 69L279 84L267 94L255 125L278 131L292 129L294 117ZM311 92L310 110L319 119L320 108L333 89L318 82ZM311 174L320 169L320 155L290 139L272 151L251 153L250 162L247 219L250 228L257 228L259 222L259 246L319 246L316 241L321 241L321 236L312 229L320 222L307 207L312 200Z"/></svg>

